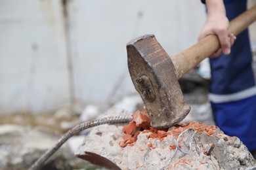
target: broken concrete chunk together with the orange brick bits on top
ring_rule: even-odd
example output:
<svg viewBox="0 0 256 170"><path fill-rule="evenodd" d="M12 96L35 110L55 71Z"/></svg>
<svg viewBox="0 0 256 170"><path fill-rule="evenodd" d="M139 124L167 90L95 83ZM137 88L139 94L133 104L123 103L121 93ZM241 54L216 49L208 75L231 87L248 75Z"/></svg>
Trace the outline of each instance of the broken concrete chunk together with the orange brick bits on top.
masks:
<svg viewBox="0 0 256 170"><path fill-rule="evenodd" d="M150 126L146 109L128 125L94 127L76 153L112 169L246 169L256 161L237 137L199 122Z"/></svg>

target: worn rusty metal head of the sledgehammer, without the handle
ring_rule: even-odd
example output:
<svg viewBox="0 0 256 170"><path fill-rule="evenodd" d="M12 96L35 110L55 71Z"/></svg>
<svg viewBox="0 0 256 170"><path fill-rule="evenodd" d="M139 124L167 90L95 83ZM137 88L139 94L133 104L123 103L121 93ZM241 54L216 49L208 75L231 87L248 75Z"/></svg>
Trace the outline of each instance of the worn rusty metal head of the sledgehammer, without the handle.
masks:
<svg viewBox="0 0 256 170"><path fill-rule="evenodd" d="M154 35L127 44L128 67L150 116L151 126L163 129L183 120L190 106L184 101L171 58Z"/></svg>

